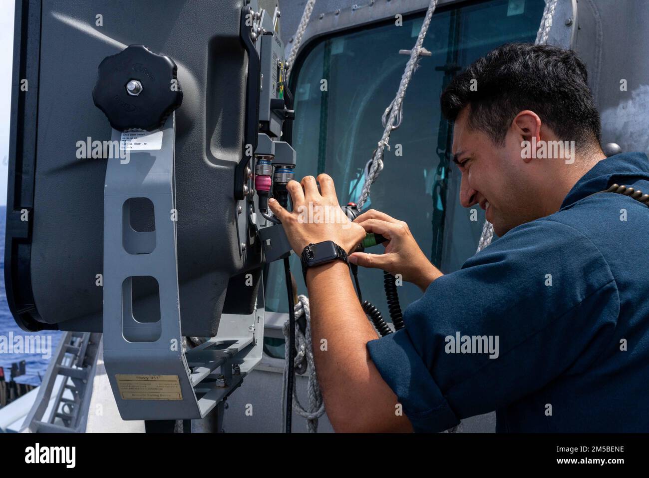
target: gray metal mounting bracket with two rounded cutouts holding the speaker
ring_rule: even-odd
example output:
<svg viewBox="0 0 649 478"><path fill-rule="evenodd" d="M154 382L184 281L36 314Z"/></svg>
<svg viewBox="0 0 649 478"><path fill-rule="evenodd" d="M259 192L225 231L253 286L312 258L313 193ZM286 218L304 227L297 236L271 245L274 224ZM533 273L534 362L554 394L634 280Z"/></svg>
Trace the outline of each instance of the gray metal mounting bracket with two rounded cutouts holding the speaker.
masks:
<svg viewBox="0 0 649 478"><path fill-rule="evenodd" d="M261 358L263 288L253 314L223 314L217 337L186 351L178 294L175 113L147 134L156 139L141 141L137 148L143 149L106 166L104 362L124 420L199 419ZM113 130L112 140L121 138ZM132 226L134 198L153 205L153 231ZM153 278L157 291L134 294L134 278L141 277L149 278L149 289Z"/></svg>

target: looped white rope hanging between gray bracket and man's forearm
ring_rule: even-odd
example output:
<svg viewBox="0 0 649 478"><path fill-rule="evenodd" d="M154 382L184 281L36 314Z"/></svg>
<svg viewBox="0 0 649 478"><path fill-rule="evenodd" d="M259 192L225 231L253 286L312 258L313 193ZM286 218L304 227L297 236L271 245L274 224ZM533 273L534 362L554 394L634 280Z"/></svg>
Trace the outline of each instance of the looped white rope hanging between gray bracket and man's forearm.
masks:
<svg viewBox="0 0 649 478"><path fill-rule="evenodd" d="M311 313L309 310L309 299L306 296L299 296L297 304L295 304L295 345L297 346L297 354L295 355L295 373L303 375L309 371L309 380L306 385L306 390L309 396L309 406L304 408L297 397L295 380L293 380L293 410L302 418L306 419L306 426L309 433L317 433L318 431L318 418L324 414L324 401L322 393L320 392L320 385L318 384L317 375L315 373L315 364L313 362L313 347L311 343ZM306 320L306 330L302 334L297 320L304 316ZM288 379L288 358L289 355L289 321L284 322L282 332L284 333L284 377L282 387L282 423L286 423L286 387Z"/></svg>

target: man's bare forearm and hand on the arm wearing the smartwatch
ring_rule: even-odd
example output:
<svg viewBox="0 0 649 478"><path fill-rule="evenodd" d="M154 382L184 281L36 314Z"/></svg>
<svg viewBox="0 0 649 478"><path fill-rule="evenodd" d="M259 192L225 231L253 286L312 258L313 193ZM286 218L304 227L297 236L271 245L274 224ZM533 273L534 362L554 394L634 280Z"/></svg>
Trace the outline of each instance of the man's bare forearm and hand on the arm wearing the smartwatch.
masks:
<svg viewBox="0 0 649 478"><path fill-rule="evenodd" d="M352 223L342 212L332 179L321 174L318 182L322 194L313 176L302 179L301 185L297 181L287 184L293 212L277 201L270 200L268 205L282 221L296 253L302 253L312 242L326 240L353 251L365 237L365 229ZM324 215L326 208L329 216ZM408 417L395 413L398 409L395 392L384 381L367 351L367 342L376 340L378 335L356 297L347 265L336 260L309 268L306 286L313 344L326 344L324 348L314 346L313 357L327 416L334 430L411 432Z"/></svg>

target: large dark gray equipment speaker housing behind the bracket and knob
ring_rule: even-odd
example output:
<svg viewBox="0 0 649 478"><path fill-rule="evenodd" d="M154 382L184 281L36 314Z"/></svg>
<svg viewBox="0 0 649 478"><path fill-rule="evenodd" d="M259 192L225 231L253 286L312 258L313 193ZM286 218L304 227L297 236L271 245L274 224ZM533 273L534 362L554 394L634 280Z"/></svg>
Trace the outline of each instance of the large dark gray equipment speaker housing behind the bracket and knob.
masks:
<svg viewBox="0 0 649 478"><path fill-rule="evenodd" d="M102 331L104 178L114 159L93 158L112 128L92 92L102 60L129 45L171 58L184 95L174 113L182 334L212 337L221 314L252 313L263 256L245 146L257 144L260 60L244 3L16 1L5 281L22 329ZM153 232L147 201L132 201L129 214L134 231ZM155 307L154 283L131 285L134 302Z"/></svg>

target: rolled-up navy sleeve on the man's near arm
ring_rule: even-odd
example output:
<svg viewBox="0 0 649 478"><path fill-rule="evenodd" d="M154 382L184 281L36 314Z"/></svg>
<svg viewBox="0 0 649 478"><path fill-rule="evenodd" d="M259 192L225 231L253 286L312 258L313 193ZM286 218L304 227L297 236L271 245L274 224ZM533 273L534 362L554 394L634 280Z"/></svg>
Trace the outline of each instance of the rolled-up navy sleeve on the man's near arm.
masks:
<svg viewBox="0 0 649 478"><path fill-rule="evenodd" d="M431 283L406 308L406 327L367 349L415 431L439 432L586 370L619 307L593 242L536 220Z"/></svg>

